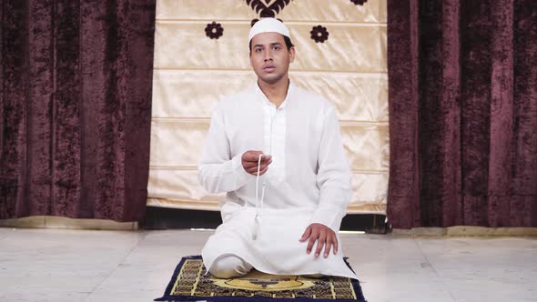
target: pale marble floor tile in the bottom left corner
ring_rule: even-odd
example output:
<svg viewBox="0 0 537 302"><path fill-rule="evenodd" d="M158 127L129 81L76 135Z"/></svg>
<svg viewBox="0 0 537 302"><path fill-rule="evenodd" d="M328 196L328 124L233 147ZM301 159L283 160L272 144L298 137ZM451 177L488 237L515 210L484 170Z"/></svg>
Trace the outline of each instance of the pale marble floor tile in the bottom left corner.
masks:
<svg viewBox="0 0 537 302"><path fill-rule="evenodd" d="M0 301L83 300L143 237L137 232L11 229L0 241Z"/></svg>

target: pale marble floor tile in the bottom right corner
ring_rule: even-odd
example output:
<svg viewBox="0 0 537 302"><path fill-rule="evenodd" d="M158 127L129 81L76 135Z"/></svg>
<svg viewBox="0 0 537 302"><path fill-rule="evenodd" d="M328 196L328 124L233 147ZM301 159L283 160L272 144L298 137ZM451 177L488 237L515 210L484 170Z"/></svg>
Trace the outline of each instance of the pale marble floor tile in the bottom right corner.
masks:
<svg viewBox="0 0 537 302"><path fill-rule="evenodd" d="M537 240L419 239L456 301L537 301Z"/></svg>

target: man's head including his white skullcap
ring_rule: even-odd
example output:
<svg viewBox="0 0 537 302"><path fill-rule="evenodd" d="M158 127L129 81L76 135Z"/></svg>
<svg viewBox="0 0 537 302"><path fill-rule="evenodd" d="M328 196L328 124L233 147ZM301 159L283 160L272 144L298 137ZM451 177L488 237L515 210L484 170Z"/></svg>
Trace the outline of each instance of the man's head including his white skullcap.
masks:
<svg viewBox="0 0 537 302"><path fill-rule="evenodd" d="M252 26L248 38L250 64L258 78L269 84L287 78L295 58L289 29L275 18L263 18Z"/></svg>

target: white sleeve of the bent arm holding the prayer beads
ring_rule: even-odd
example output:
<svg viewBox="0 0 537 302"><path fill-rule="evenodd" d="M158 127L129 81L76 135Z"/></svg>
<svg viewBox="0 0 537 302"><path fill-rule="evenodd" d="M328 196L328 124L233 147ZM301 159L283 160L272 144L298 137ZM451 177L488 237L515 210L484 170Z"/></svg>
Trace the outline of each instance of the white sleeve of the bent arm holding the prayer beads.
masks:
<svg viewBox="0 0 537 302"><path fill-rule="evenodd" d="M226 127L218 108L211 118L198 166L198 181L212 194L234 191L253 177L244 170L241 154L231 158Z"/></svg>

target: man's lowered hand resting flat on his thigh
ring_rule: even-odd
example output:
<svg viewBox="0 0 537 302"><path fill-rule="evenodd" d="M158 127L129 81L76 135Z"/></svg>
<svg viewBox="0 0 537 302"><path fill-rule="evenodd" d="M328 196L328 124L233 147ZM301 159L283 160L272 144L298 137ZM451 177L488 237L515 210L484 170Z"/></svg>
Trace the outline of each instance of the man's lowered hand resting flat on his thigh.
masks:
<svg viewBox="0 0 537 302"><path fill-rule="evenodd" d="M336 233L332 231L331 228L322 224L311 224L306 228L306 231L302 237L300 237L300 242L304 242L308 240L308 238L309 243L308 247L306 248L306 252L308 254L311 253L311 248L313 248L313 245L317 240L319 240L319 242L317 244L317 250L315 251L315 257L319 257L322 247L325 247L325 258L329 257L330 247L333 247L332 250L334 255L338 254L338 237L336 237Z"/></svg>

